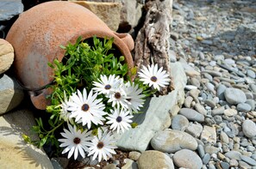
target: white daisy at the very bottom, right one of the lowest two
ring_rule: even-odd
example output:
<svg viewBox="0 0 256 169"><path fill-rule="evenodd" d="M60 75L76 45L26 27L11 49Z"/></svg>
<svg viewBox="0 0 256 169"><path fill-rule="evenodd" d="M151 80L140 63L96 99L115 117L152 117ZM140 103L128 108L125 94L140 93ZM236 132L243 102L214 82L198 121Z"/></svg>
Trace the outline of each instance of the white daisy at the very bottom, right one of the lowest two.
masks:
<svg viewBox="0 0 256 169"><path fill-rule="evenodd" d="M102 131L98 130L98 135L94 136L94 139L91 141L91 147L90 153L88 156L93 154L92 160L95 160L96 158L100 162L103 160L108 160L108 157L112 157L112 154L116 154L115 148L115 142L112 138L113 136L110 135L110 133L105 130L105 132L102 135Z"/></svg>

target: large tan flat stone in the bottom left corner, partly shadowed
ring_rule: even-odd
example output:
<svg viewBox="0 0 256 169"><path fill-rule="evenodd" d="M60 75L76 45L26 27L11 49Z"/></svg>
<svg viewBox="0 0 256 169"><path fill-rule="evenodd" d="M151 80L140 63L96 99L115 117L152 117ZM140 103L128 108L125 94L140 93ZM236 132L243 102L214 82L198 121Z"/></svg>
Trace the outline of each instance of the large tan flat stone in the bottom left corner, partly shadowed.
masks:
<svg viewBox="0 0 256 169"><path fill-rule="evenodd" d="M22 139L22 134L31 136L34 124L33 113L28 110L0 116L0 168L53 168L47 154ZM38 138L31 136L31 139Z"/></svg>

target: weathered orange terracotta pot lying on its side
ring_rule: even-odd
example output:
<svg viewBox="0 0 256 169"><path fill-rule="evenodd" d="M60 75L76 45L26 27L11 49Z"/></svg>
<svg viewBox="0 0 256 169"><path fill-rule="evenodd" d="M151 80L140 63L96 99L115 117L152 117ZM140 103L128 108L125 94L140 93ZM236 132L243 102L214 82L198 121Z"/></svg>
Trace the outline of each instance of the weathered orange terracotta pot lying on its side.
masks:
<svg viewBox="0 0 256 169"><path fill-rule="evenodd" d="M32 91L53 81L53 69L47 63L54 58L62 60L65 50L59 45L76 42L79 36L89 39L114 37L114 44L125 57L128 67L134 66L130 51L134 40L127 33L115 33L94 15L76 3L55 1L41 3L22 13L7 35L7 41L14 46L14 67L19 81ZM29 92L34 106L45 110L50 104L46 96L49 89Z"/></svg>

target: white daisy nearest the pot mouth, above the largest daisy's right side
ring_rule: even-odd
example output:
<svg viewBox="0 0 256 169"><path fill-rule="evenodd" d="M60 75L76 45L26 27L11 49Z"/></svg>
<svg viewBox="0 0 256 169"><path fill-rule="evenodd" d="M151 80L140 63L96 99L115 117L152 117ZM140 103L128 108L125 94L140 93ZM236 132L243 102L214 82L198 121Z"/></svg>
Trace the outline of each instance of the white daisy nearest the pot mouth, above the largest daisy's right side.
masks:
<svg viewBox="0 0 256 169"><path fill-rule="evenodd" d="M121 83L121 79L119 79L119 76L115 75L109 75L109 78L107 75L100 75L99 82L93 81L93 85L96 88L92 88L95 90L98 94L106 94L107 96L111 93L113 93L113 90L118 88Z"/></svg>

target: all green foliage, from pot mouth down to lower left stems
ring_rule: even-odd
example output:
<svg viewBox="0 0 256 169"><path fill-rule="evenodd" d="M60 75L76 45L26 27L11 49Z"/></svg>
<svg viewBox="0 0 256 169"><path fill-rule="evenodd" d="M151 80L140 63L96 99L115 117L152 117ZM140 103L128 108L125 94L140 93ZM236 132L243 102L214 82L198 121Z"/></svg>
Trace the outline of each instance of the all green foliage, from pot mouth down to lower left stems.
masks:
<svg viewBox="0 0 256 169"><path fill-rule="evenodd" d="M40 137L40 141L31 141L28 136L23 136L26 142L34 143L38 147L42 147L46 143L53 144L59 148L59 142L56 138L56 130L63 127L65 121L59 118L60 104L64 100L64 92L69 97L79 88L91 90L92 81L96 81L100 75L119 75L127 80L128 64L124 63L123 56L114 56L112 48L114 39L97 39L93 37L92 45L83 41L81 37L77 39L75 44L61 45L66 50L65 57L62 62L57 59L48 66L54 70L53 94L48 98L51 99L51 106L47 106L47 112L51 113L48 119L47 129L43 125L42 119L36 119L37 125L33 127L35 133ZM136 74L136 69L132 69L132 74ZM97 134L97 129L93 130Z"/></svg>

